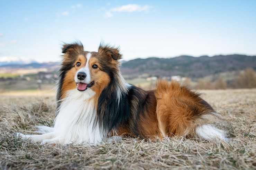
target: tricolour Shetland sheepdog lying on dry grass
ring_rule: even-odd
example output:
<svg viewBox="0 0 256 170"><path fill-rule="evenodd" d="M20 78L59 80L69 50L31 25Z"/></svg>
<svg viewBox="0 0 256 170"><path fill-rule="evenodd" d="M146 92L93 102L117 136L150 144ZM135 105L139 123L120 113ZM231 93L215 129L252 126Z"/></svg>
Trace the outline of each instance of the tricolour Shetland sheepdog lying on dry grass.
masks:
<svg viewBox="0 0 256 170"><path fill-rule="evenodd" d="M91 144L122 136L229 140L231 124L180 83L158 80L150 91L128 84L119 69L119 48L101 43L98 52L89 52L74 42L64 44L62 53L54 126L39 126L41 134L19 133L22 139L41 144Z"/></svg>

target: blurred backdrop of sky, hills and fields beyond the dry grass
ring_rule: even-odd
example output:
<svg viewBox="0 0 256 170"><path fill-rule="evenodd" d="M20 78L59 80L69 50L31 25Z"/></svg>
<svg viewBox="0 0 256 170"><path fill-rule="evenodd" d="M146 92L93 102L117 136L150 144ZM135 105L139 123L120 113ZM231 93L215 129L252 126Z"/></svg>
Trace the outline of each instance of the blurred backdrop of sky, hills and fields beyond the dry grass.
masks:
<svg viewBox="0 0 256 170"><path fill-rule="evenodd" d="M0 93L54 92L61 44L120 46L126 81L256 88L256 1L0 1Z"/></svg>

